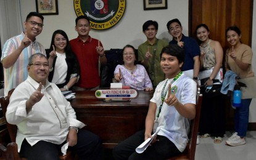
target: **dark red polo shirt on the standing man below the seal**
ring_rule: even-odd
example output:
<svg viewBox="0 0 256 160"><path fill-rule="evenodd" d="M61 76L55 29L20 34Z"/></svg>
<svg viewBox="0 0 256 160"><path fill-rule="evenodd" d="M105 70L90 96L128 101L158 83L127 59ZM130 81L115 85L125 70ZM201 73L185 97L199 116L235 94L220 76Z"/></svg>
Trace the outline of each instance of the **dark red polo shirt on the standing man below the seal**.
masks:
<svg viewBox="0 0 256 160"><path fill-rule="evenodd" d="M70 41L73 53L80 65L80 79L76 86L82 88L94 88L99 86L99 54L96 51L99 40L89 38L83 42L79 36ZM100 42L100 46L102 46Z"/></svg>

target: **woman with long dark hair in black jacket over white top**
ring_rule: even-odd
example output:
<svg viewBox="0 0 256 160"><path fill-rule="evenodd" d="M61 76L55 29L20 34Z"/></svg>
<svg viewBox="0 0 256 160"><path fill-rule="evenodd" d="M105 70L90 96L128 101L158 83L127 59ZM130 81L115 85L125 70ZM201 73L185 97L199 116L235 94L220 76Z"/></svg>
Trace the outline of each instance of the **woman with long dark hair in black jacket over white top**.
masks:
<svg viewBox="0 0 256 160"><path fill-rule="evenodd" d="M48 81L55 83L61 91L72 89L80 77L80 67L75 54L72 53L65 31L54 31L46 55L51 68Z"/></svg>

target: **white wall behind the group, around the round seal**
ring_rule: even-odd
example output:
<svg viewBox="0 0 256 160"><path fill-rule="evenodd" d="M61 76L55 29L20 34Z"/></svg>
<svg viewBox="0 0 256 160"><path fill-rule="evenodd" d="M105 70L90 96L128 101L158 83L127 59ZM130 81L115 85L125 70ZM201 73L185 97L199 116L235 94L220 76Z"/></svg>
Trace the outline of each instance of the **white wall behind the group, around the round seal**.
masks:
<svg viewBox="0 0 256 160"><path fill-rule="evenodd" d="M36 10L35 0L20 1L22 7L22 20L24 21L28 12ZM55 30L61 29L68 34L69 39L77 37L75 31L75 10L73 0L59 0L59 15L45 15L43 32L38 36L38 41L45 48L49 48L51 36ZM122 48L126 44L138 47L146 41L142 33L142 25L147 20L156 20L159 23L158 38L171 39L167 32L168 20L179 18L188 35L188 0L168 1L168 9L144 10L143 1L126 0L126 10L120 22L109 30L91 30L93 38L100 39L105 49Z"/></svg>

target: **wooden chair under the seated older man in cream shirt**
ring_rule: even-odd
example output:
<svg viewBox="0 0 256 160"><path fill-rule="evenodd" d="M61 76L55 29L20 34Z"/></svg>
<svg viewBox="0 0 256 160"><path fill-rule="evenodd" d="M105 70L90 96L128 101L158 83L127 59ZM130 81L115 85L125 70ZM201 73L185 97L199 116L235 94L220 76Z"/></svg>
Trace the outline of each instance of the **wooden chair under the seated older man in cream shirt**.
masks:
<svg viewBox="0 0 256 160"><path fill-rule="evenodd" d="M8 92L7 97L0 98L4 117L6 116L6 110L7 110L7 106L9 105L9 99L10 99L10 95L12 95L12 92L14 92L14 89ZM9 132L11 142L7 146L0 144L0 159L25 160L25 158L20 158L20 155L18 152L18 146L17 146L17 143L15 143L16 135L17 135L17 126L13 124L9 124L7 122L7 130ZM71 151L67 151L67 154L65 156L60 155L59 159L72 160L72 159L75 159L75 155Z"/></svg>

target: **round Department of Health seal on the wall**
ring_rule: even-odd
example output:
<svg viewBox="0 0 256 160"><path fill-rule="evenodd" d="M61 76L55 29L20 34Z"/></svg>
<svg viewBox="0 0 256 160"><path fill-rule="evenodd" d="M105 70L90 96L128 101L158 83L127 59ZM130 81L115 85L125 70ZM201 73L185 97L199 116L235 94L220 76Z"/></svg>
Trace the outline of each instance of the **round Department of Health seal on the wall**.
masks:
<svg viewBox="0 0 256 160"><path fill-rule="evenodd" d="M125 13L126 0L74 0L77 16L89 17L94 30L105 30L116 25Z"/></svg>

